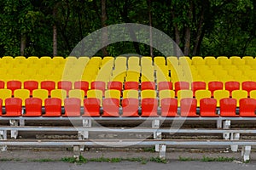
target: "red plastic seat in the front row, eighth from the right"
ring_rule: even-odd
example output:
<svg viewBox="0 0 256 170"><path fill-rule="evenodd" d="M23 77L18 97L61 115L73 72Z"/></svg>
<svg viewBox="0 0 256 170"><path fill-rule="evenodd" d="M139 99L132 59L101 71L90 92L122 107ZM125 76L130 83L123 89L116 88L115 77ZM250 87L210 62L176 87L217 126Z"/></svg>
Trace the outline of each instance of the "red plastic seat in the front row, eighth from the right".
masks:
<svg viewBox="0 0 256 170"><path fill-rule="evenodd" d="M108 98L103 99L103 114L102 116L119 116L119 99Z"/></svg>

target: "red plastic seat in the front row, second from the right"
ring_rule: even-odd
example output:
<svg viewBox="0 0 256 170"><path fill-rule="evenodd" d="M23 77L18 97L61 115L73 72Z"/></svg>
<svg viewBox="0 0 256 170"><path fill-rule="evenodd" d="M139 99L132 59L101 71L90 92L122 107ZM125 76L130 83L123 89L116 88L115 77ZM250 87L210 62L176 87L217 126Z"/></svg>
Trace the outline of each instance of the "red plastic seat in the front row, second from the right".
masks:
<svg viewBox="0 0 256 170"><path fill-rule="evenodd" d="M236 99L224 98L219 100L220 116L238 116L236 115Z"/></svg>

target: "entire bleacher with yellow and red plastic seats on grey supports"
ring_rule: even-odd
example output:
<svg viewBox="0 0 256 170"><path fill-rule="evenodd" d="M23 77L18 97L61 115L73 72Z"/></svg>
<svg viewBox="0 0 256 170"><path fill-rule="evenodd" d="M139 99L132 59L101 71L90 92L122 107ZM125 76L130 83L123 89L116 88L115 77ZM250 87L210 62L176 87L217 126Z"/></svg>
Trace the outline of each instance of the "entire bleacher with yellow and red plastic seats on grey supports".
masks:
<svg viewBox="0 0 256 170"><path fill-rule="evenodd" d="M0 122L8 120L11 127L1 125L0 134L6 140L7 131L15 139L18 131L44 131L26 127L26 120L82 120L86 129L77 131L87 132L82 139L88 139L88 132L94 131L93 120L150 120L149 131L158 139L150 144L159 145L161 131L155 129L162 129L160 122L210 120L216 121L212 132L224 127L218 131L224 139L238 140L237 134L252 129L229 131L230 122L256 121L255 64L252 56L4 56L0 59ZM198 141L188 144L193 142ZM244 145L255 145L248 142Z"/></svg>

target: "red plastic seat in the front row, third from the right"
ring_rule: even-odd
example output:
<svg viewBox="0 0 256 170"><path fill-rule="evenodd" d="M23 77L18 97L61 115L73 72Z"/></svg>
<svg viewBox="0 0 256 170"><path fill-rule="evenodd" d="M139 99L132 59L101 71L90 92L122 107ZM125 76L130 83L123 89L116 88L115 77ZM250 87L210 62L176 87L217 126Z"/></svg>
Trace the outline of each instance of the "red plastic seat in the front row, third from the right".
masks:
<svg viewBox="0 0 256 170"><path fill-rule="evenodd" d="M216 114L217 100L213 98L203 98L200 100L200 115L207 117L218 116Z"/></svg>

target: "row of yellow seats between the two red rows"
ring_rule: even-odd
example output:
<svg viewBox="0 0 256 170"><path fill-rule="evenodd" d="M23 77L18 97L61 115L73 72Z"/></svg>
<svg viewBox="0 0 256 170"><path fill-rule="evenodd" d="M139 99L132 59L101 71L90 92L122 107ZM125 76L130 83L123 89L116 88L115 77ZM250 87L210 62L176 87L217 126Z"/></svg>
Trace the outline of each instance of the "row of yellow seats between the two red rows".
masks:
<svg viewBox="0 0 256 170"><path fill-rule="evenodd" d="M50 91L46 89L35 89L32 91L32 95L30 95L30 91L27 89L16 89L14 91L14 95L12 95L11 90L9 89L0 89L0 99L3 99L3 105L5 105L4 99L8 98L20 98L22 99L22 105L25 105L25 101L28 98L39 98L44 101L44 99L48 98L58 98L61 99L61 105L64 105L64 100L67 98L78 98L81 99L81 101L85 98L91 99L91 98L96 98L101 101L102 105L102 99L127 99L127 98L133 98L133 99L177 99L177 105L180 105L180 101L184 98L195 98L197 99L197 106L200 106L200 99L204 98L213 98L217 100L217 106L219 106L219 101L220 99L224 98L231 98L231 99L243 99L243 98L248 98L247 96L247 91L245 90L234 90L231 93L227 90L216 90L213 93L213 96L209 90L197 90L195 92L195 96L193 95L193 91L191 90L179 90L177 92L177 96L175 96L175 91L173 90L161 90L159 93L157 93L155 90L143 90L143 91L138 91L135 89L129 89L129 90L124 90L123 93L119 90L116 89L110 89L106 90L104 93L102 93L102 90L98 89L91 89L87 91L87 95L85 96L84 91L80 89L73 89L70 90L69 93L67 94L67 91L62 90L62 89L54 89ZM250 92L250 99L256 99L256 90L252 90ZM248 99L249 99L248 98ZM44 102L43 102L44 105ZM81 105L83 105L81 103ZM239 107L239 103L237 103L237 107Z"/></svg>

